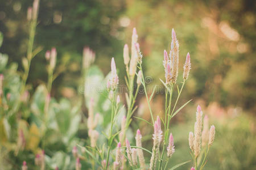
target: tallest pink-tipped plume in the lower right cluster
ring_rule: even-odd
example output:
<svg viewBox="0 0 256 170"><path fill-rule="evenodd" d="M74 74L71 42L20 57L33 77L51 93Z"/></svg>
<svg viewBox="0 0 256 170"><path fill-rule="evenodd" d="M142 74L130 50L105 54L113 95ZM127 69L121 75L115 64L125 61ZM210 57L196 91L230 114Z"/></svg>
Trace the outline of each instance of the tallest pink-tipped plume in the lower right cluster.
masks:
<svg viewBox="0 0 256 170"><path fill-rule="evenodd" d="M202 114L201 107L198 105L196 112L196 123L195 123L195 139L194 139L194 150L195 158L199 156L201 150L201 134L202 134Z"/></svg>

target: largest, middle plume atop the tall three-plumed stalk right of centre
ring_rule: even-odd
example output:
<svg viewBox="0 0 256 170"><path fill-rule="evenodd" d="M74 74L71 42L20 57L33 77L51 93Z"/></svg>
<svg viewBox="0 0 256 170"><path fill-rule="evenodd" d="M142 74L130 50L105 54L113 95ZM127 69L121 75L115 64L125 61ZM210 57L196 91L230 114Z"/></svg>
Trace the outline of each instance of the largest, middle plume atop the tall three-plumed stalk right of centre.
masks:
<svg viewBox="0 0 256 170"><path fill-rule="evenodd" d="M176 33L172 28L172 42L171 42L171 58L173 59L172 64L172 84L177 81L178 67L179 67L179 41L177 41Z"/></svg>

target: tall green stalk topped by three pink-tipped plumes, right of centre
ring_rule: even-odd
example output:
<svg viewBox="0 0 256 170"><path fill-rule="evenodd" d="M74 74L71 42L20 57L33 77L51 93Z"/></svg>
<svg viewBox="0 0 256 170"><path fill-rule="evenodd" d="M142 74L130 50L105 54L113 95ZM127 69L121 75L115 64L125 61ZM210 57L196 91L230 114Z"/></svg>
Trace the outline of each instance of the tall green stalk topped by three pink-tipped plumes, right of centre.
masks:
<svg viewBox="0 0 256 170"><path fill-rule="evenodd" d="M159 170L161 169L162 166L162 160L164 156L164 151L167 149L167 158L170 158L174 152L174 146L171 147L171 143L169 142L169 145L167 146L167 140L168 140L168 135L169 135L169 128L170 128L170 121L171 118L177 114L177 112L180 111L186 104L189 103L189 100L187 103L185 103L181 108L176 109L177 101L179 100L180 94L183 90L185 80L188 79L189 71L191 69L191 61L190 61L190 56L189 53L187 54L186 61L184 64L184 71L183 71L183 83L181 88L178 88L178 95L174 104L174 107L171 107L172 105L172 94L174 92L174 87L177 82L177 77L178 77L178 70L179 70L179 41L177 40L176 33L174 29L172 29L172 41L171 41L171 50L170 54L168 55L167 51L164 50L164 59L163 59L163 66L164 66L164 72L165 72L165 78L166 82L162 83L166 87L166 104L165 104L165 116L164 116L164 142L163 142L163 150L162 154L160 156L160 164L159 164ZM169 135L169 141L170 139L173 139L172 135ZM167 148L166 148L167 147ZM167 160L168 163L168 160ZM166 163L166 166L167 166ZM165 166L165 167L166 167Z"/></svg>

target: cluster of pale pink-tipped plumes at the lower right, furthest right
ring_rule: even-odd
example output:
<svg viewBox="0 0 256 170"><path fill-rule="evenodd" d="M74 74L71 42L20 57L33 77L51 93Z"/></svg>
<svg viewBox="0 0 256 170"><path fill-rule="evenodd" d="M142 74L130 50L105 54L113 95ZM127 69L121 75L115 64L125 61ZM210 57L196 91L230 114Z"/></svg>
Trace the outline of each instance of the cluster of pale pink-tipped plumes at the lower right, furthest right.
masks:
<svg viewBox="0 0 256 170"><path fill-rule="evenodd" d="M197 106L197 112L196 112L196 122L194 126L194 133L191 131L189 132L188 135L188 143L189 143L189 148L192 151L193 159L195 162L195 170L197 169L203 169L204 165L206 164L205 160L207 158L209 148L212 145L215 137L215 127L214 125L210 126L210 130L208 130L208 117L204 117L204 129L202 132L202 117L203 117L203 112L201 111L201 107L198 105ZM201 151L201 146L204 147L207 145L208 141L208 147L205 148L204 152ZM202 145L201 145L202 143ZM199 155L204 154L204 159L203 162L200 163ZM191 169L192 169L191 168Z"/></svg>

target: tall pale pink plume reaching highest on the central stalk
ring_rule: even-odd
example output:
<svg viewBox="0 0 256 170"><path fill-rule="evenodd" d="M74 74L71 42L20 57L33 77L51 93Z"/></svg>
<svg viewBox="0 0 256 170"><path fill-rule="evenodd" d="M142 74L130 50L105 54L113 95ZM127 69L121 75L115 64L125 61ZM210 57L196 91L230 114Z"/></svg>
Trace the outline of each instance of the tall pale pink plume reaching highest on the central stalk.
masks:
<svg viewBox="0 0 256 170"><path fill-rule="evenodd" d="M130 68L129 74L130 76L134 76L137 70L137 50L135 48L135 44L138 41L138 35L136 28L133 28L133 35L131 36L131 60L130 60Z"/></svg>

